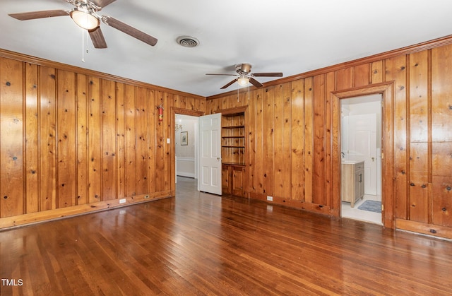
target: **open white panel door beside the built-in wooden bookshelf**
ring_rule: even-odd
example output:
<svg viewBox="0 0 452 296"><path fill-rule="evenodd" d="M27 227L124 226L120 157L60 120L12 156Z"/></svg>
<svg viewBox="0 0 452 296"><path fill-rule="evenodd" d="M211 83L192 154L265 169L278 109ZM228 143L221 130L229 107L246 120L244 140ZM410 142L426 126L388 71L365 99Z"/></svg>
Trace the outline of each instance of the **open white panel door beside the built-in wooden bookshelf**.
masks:
<svg viewBox="0 0 452 296"><path fill-rule="evenodd" d="M221 113L199 117L198 190L221 195Z"/></svg>

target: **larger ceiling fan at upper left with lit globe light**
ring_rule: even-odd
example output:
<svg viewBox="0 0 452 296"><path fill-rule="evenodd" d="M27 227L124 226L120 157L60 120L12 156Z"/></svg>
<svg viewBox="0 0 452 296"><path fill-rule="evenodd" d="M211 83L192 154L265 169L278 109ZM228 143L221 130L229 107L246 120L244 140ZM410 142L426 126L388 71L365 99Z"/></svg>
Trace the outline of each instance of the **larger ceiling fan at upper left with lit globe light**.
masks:
<svg viewBox="0 0 452 296"><path fill-rule="evenodd" d="M52 11L31 11L25 13L10 13L8 16L18 20L34 20L36 18L52 18L54 16L71 16L73 21L81 28L88 30L91 40L95 48L107 48L104 35L100 30L100 20L106 25L113 27L121 32L126 33L138 40L141 40L148 45L154 46L157 44L157 39L153 36L141 32L136 28L131 27L116 18L111 16L99 16L98 11L108 4L112 4L116 0L66 0L66 2L76 6L70 11L66 10L52 10Z"/></svg>

